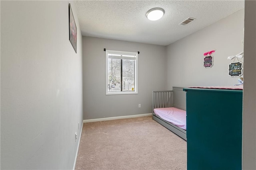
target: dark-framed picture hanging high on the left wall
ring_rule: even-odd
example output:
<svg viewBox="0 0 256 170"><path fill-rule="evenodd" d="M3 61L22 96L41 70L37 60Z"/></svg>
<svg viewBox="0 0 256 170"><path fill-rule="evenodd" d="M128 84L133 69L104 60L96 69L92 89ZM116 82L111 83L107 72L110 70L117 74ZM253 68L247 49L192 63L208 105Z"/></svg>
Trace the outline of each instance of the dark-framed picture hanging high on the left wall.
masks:
<svg viewBox="0 0 256 170"><path fill-rule="evenodd" d="M74 16L73 16L73 12L70 4L68 8L68 13L69 13L69 41L76 52L76 23L74 20Z"/></svg>

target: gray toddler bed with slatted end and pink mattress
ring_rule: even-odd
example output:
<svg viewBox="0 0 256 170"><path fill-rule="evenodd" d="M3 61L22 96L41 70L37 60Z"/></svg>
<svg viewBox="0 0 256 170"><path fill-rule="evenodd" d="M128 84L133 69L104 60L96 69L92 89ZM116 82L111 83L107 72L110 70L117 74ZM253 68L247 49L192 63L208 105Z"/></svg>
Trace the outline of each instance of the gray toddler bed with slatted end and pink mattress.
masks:
<svg viewBox="0 0 256 170"><path fill-rule="evenodd" d="M181 87L173 90L153 91L153 119L180 136L186 138L186 93Z"/></svg>

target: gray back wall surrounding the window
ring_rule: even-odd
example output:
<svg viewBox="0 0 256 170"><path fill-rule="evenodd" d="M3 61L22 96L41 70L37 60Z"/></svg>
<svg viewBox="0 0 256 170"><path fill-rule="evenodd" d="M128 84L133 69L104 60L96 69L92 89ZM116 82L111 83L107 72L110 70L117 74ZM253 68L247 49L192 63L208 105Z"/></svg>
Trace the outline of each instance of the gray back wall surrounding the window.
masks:
<svg viewBox="0 0 256 170"><path fill-rule="evenodd" d="M106 95L104 48L140 51L138 94ZM164 46L83 37L84 119L152 113L152 90L165 90L165 57Z"/></svg>

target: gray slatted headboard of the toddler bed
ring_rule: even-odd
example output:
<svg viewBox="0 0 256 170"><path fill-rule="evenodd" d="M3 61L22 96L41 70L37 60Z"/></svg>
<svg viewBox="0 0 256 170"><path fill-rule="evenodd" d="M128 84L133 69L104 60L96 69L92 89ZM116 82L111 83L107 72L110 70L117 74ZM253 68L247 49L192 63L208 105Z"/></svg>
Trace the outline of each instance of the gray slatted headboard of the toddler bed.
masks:
<svg viewBox="0 0 256 170"><path fill-rule="evenodd" d="M172 107L172 90L153 91L152 113L155 108Z"/></svg>

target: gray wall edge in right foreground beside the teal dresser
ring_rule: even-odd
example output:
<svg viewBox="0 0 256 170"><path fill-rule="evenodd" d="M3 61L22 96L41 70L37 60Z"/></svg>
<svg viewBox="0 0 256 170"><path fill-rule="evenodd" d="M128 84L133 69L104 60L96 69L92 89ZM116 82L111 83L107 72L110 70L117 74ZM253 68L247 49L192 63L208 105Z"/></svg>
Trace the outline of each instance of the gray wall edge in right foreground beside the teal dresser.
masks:
<svg viewBox="0 0 256 170"><path fill-rule="evenodd" d="M256 169L256 1L245 1L243 170Z"/></svg>

